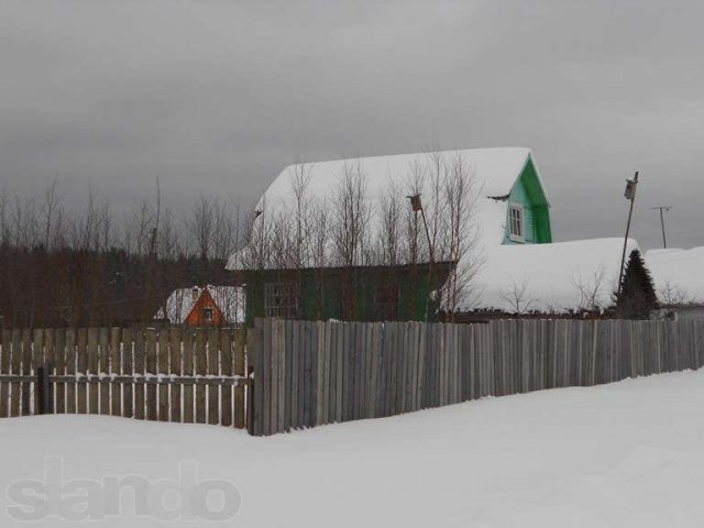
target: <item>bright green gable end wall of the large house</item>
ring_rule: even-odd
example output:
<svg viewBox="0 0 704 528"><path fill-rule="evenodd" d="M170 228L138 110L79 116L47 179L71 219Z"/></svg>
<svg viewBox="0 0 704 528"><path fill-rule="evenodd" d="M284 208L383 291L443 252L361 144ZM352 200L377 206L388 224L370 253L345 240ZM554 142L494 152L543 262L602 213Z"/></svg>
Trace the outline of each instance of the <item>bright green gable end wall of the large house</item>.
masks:
<svg viewBox="0 0 704 528"><path fill-rule="evenodd" d="M542 190L538 173L529 157L520 177L514 184L506 204L506 229L504 232L505 244L516 244L509 237L509 204L519 204L524 207L524 227L526 244L546 244L552 242L552 229L550 226L550 205Z"/></svg>

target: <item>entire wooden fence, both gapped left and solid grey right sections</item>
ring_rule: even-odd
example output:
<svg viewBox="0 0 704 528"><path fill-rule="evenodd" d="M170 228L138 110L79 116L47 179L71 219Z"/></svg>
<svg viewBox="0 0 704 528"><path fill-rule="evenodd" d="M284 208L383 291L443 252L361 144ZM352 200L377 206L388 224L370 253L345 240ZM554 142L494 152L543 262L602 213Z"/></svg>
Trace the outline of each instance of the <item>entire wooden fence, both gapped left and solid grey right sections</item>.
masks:
<svg viewBox="0 0 704 528"><path fill-rule="evenodd" d="M100 414L263 436L701 366L704 321L10 329L0 417Z"/></svg>

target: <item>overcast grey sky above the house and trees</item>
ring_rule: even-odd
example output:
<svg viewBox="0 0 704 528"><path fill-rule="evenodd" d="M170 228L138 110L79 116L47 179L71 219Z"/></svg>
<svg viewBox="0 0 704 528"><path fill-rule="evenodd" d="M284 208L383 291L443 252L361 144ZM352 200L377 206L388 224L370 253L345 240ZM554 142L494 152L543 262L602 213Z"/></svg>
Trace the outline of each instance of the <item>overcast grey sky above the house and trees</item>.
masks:
<svg viewBox="0 0 704 528"><path fill-rule="evenodd" d="M704 2L0 0L0 180L116 208L283 166L530 146L558 240L704 244ZM79 204L78 198L74 198Z"/></svg>

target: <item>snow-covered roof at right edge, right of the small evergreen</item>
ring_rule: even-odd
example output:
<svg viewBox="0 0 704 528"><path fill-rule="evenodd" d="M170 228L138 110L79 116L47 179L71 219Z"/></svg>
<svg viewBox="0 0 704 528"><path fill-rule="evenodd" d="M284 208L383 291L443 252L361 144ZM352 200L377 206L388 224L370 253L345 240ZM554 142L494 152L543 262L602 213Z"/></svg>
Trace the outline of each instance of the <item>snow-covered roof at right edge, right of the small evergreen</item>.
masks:
<svg viewBox="0 0 704 528"><path fill-rule="evenodd" d="M660 302L704 304L704 246L650 250L645 260Z"/></svg>

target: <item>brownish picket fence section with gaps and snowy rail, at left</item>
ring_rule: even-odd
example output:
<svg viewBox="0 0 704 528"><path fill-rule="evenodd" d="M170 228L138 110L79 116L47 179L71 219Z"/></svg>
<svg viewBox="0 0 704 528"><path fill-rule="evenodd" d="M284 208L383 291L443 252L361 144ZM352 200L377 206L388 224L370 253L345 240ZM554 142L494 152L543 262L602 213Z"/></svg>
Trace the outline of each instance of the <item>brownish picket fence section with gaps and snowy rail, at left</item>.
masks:
<svg viewBox="0 0 704 528"><path fill-rule="evenodd" d="M242 429L245 341L244 330L222 329L3 330L0 417L100 414Z"/></svg>

